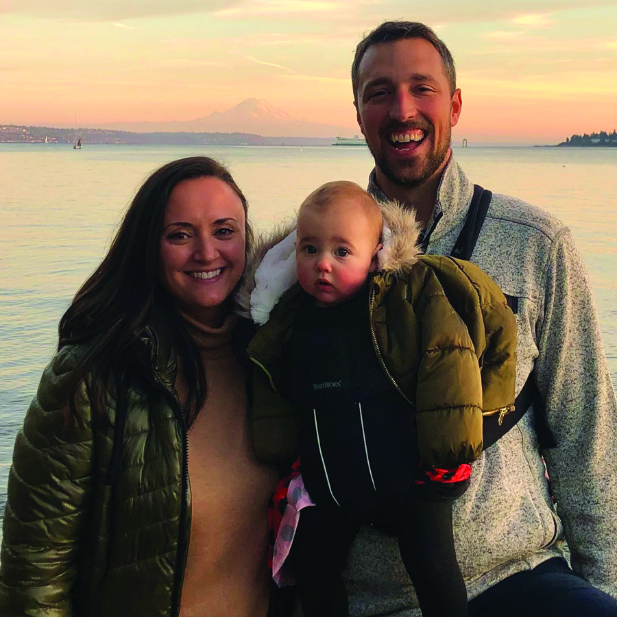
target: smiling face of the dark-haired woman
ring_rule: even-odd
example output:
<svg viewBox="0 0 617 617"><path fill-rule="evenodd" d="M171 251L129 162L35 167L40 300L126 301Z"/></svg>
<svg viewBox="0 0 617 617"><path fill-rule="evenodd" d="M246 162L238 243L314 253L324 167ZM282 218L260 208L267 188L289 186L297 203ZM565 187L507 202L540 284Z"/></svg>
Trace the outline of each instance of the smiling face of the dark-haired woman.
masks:
<svg viewBox="0 0 617 617"><path fill-rule="evenodd" d="M228 184L206 176L176 184L165 208L159 276L181 311L220 326L244 250L244 208Z"/></svg>

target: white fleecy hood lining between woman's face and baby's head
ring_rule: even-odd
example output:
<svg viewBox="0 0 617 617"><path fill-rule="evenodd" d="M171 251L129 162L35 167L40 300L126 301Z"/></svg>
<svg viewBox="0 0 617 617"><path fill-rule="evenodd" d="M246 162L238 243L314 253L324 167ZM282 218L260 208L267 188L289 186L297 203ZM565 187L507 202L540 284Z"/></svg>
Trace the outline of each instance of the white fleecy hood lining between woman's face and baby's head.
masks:
<svg viewBox="0 0 617 617"><path fill-rule="evenodd" d="M298 280L295 271L295 229L274 245L255 272L255 289L251 293L251 317L263 325L280 297Z"/></svg>

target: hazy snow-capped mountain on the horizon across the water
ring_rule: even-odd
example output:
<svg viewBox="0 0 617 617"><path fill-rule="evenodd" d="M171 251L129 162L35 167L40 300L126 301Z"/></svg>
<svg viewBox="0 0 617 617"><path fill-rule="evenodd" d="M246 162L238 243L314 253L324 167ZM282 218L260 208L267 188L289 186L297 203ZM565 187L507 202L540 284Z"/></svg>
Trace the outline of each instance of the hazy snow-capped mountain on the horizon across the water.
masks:
<svg viewBox="0 0 617 617"><path fill-rule="evenodd" d="M224 112L186 121L114 122L100 125L110 130L191 133L252 133L265 137L322 137L352 136L353 128L322 124L294 118L263 99L245 99Z"/></svg>

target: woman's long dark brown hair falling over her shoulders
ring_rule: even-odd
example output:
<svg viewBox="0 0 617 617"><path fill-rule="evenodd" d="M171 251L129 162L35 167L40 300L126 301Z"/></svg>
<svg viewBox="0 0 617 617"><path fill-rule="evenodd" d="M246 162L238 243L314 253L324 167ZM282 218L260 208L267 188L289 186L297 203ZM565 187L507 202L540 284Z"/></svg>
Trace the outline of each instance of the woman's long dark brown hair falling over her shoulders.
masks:
<svg viewBox="0 0 617 617"><path fill-rule="evenodd" d="M199 350L178 315L169 293L158 279L160 235L165 207L179 182L202 176L219 178L247 202L229 171L206 156L167 163L142 184L121 223L110 250L77 291L58 325L58 350L84 345L84 354L69 380L67 417L75 413L74 395L82 380L88 383L93 414L104 413L109 392L134 365L136 340L156 311L174 348L189 395L184 415L190 425L206 400L206 376ZM246 251L252 230L246 220Z"/></svg>

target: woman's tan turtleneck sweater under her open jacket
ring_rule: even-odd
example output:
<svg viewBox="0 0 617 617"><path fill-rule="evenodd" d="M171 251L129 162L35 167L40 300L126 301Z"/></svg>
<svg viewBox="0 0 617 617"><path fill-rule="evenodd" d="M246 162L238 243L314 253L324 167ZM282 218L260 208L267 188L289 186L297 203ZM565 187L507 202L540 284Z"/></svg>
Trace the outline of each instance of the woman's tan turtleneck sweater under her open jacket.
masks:
<svg viewBox="0 0 617 617"><path fill-rule="evenodd" d="M184 318L202 352L207 397L189 428L191 542L180 617L265 617L267 500L276 473L250 454L245 374L230 346L237 318L221 328ZM176 387L184 400L181 378Z"/></svg>

